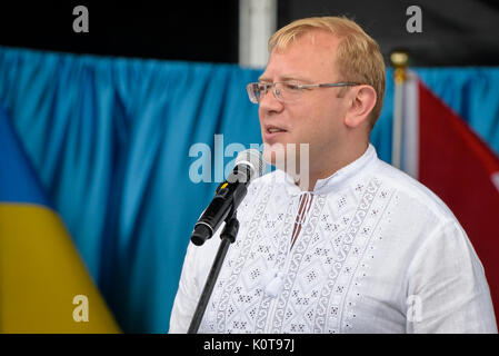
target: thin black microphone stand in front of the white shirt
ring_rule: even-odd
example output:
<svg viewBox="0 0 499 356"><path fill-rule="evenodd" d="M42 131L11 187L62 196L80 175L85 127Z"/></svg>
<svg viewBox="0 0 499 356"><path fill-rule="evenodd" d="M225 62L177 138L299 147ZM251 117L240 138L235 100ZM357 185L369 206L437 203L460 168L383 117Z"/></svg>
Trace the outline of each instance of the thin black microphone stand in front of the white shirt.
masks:
<svg viewBox="0 0 499 356"><path fill-rule="evenodd" d="M204 315L208 301L210 300L214 284L217 283L218 275L220 274L220 269L222 268L227 250L229 249L230 244L236 241L236 236L238 235L238 231L239 231L239 221L236 217L236 209L232 208L226 218L226 226L223 227L223 230L220 234L221 239L220 247L218 248L217 256L214 257L213 265L211 266L210 273L204 284L204 288L202 289L201 293L201 297L199 298L194 316L192 317L187 334L198 333L199 325L201 324L201 319Z"/></svg>

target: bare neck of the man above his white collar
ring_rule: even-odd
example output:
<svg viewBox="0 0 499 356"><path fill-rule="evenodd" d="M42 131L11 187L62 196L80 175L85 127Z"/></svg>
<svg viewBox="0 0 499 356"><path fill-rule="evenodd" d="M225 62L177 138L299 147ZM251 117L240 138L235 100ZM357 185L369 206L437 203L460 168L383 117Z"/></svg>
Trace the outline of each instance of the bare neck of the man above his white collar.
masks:
<svg viewBox="0 0 499 356"><path fill-rule="evenodd" d="M360 158L368 149L369 144L356 145L349 148L340 149L335 157L327 156L325 159L317 160L318 165L310 162L308 177L299 174L295 182L302 191L312 191L319 179L325 179L336 174L341 168L350 165ZM308 179L307 179L308 178Z"/></svg>

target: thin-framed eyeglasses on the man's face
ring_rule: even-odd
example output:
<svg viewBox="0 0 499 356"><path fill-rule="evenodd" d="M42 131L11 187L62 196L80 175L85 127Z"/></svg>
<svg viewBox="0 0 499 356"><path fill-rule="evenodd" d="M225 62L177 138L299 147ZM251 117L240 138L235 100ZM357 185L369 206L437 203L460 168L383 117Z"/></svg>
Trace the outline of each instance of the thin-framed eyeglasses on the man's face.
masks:
<svg viewBox="0 0 499 356"><path fill-rule="evenodd" d="M358 82L327 82L319 85L300 85L296 81L277 81L272 83L268 82L250 82L246 89L251 102L259 103L261 99L267 95L269 88L272 87L276 99L281 102L296 101L300 98L303 89L313 88L335 88L335 87L353 87L360 86Z"/></svg>

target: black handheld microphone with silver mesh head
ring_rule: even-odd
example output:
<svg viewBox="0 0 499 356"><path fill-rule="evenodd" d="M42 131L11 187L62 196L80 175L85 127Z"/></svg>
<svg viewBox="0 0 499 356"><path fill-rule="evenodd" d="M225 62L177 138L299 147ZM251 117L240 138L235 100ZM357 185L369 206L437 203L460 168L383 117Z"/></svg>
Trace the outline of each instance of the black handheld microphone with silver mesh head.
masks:
<svg viewBox="0 0 499 356"><path fill-rule="evenodd" d="M213 236L231 210L236 210L246 197L248 186L263 174L261 154L252 148L239 152L236 165L224 182L214 191L213 200L203 211L191 235L192 244L201 246Z"/></svg>

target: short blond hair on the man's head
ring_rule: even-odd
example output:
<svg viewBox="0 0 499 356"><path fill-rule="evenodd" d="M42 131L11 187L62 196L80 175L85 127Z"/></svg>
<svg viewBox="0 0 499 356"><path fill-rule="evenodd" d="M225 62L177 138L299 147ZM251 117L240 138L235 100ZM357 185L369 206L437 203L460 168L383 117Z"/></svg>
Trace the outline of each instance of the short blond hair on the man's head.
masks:
<svg viewBox="0 0 499 356"><path fill-rule="evenodd" d="M381 112L385 97L385 61L378 43L360 26L346 17L315 17L296 20L272 34L269 52L285 49L290 42L313 29L332 32L339 40L336 65L342 81L371 86L377 100L370 113L370 130Z"/></svg>

